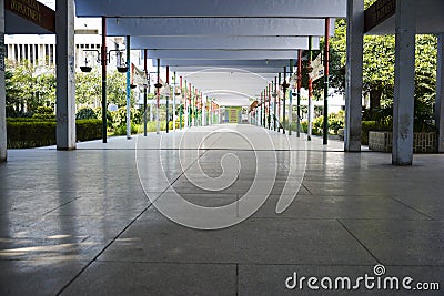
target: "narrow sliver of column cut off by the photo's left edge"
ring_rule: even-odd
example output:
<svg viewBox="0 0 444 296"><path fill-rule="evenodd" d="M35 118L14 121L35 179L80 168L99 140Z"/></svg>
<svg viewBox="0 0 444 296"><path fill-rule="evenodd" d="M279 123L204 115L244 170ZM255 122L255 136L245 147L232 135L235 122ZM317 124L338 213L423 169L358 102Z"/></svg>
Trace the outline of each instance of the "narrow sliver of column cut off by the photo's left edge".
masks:
<svg viewBox="0 0 444 296"><path fill-rule="evenodd" d="M0 6L0 162L7 161L7 98L4 85L4 6Z"/></svg>

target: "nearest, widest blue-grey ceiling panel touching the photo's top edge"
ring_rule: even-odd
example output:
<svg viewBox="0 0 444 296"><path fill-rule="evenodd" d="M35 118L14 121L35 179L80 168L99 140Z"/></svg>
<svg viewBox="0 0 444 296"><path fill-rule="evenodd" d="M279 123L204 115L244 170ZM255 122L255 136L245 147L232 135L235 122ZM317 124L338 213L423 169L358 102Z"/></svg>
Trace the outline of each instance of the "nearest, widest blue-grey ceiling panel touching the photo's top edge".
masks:
<svg viewBox="0 0 444 296"><path fill-rule="evenodd" d="M346 0L75 0L79 17L345 18Z"/></svg>

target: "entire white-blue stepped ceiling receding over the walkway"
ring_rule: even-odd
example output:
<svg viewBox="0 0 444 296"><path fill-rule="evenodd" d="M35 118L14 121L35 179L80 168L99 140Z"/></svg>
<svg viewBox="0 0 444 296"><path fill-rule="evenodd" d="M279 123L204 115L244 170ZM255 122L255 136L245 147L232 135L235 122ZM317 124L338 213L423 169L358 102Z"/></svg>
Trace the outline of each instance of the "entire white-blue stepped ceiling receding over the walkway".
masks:
<svg viewBox="0 0 444 296"><path fill-rule="evenodd" d="M325 18L346 0L75 0L78 17L107 17L109 35L130 35L188 83L221 104L249 105L297 50L319 49ZM294 61L296 64L296 61Z"/></svg>

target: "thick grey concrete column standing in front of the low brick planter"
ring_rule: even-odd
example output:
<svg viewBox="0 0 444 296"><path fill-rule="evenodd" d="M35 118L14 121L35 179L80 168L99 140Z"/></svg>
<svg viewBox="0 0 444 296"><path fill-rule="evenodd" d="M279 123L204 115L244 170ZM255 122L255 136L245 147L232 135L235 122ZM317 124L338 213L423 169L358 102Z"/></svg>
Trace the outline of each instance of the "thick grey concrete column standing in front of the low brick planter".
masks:
<svg viewBox="0 0 444 296"><path fill-rule="evenodd" d="M395 90L393 104L394 165L413 163L416 0L396 0Z"/></svg>

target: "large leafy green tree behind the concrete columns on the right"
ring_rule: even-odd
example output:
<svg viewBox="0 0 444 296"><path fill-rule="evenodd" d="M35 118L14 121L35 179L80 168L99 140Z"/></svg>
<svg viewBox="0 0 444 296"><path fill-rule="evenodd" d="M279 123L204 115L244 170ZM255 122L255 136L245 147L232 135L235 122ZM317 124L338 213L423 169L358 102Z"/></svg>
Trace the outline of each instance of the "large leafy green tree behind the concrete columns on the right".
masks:
<svg viewBox="0 0 444 296"><path fill-rule="evenodd" d="M365 8L375 0L365 0ZM323 48L323 43L321 44ZM415 99L417 105L431 110L436 85L436 49L434 35L416 37ZM345 91L346 21L336 20L335 35L331 39L331 86ZM371 110L391 105L394 89L395 38L394 35L365 35L363 63L363 92L370 98ZM314 85L319 91L323 81Z"/></svg>

